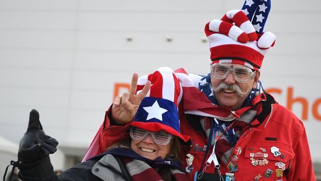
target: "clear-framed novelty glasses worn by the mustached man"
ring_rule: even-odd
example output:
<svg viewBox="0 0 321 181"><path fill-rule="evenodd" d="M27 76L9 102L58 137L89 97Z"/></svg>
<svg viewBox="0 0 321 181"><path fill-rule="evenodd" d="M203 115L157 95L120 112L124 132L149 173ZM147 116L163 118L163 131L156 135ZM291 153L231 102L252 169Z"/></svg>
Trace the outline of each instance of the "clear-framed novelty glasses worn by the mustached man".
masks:
<svg viewBox="0 0 321 181"><path fill-rule="evenodd" d="M214 63L211 67L211 75L216 79L225 79L231 71L233 72L234 79L240 83L253 79L256 73L256 71L253 72L248 67L230 66L222 63Z"/></svg>

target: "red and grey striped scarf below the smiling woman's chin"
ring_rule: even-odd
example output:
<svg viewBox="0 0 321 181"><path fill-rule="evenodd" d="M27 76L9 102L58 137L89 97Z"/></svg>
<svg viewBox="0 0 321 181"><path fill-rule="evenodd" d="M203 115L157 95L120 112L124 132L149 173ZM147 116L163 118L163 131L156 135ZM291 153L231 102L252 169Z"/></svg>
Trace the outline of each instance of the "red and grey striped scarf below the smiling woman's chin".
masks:
<svg viewBox="0 0 321 181"><path fill-rule="evenodd" d="M122 163L126 166L129 175L133 181L167 181L167 179L161 178L157 171L148 165L146 162L138 159L122 157ZM188 181L186 173L174 169L168 168L175 181ZM171 177L168 178L171 181Z"/></svg>

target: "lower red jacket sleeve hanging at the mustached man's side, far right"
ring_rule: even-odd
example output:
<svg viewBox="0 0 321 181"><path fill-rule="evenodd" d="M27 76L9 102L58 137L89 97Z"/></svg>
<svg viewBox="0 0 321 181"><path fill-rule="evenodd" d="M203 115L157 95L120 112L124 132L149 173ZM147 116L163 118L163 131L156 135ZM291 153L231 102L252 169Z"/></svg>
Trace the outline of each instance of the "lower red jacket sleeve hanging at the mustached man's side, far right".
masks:
<svg viewBox="0 0 321 181"><path fill-rule="evenodd" d="M293 145L294 159L287 174L288 181L315 181L312 159L308 144L307 134L302 121L300 121L300 134L298 142Z"/></svg>

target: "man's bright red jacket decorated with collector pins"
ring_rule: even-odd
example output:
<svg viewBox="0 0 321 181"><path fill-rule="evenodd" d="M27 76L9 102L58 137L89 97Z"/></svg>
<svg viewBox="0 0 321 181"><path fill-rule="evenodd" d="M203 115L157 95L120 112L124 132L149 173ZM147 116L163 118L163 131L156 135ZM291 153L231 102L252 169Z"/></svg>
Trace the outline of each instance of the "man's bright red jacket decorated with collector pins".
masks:
<svg viewBox="0 0 321 181"><path fill-rule="evenodd" d="M255 119L251 122L252 126L245 127L242 130L234 153L237 153L236 148L240 147L238 160L235 161L238 166L238 171L235 172L235 181L254 181L255 177L262 177L259 181L315 181L315 175L312 167L310 149L308 145L307 135L304 125L291 111L281 106L278 103L272 104L272 111L264 121ZM109 120L109 111L107 111L105 121L101 126L100 145L97 154L104 152L112 144L117 141L128 138L128 134L122 134L128 128L127 126L111 126ZM194 117L194 119L197 117ZM207 138L199 131L196 131L193 125L187 119L187 115L180 116L181 133L192 138L193 146L189 150L182 151L182 165L187 166L185 159L186 154L190 153L194 156L193 171L190 175L191 180L194 180L194 174L200 170L201 163L204 157L204 151L200 151L198 147L203 148L207 144ZM198 120L195 120L198 121ZM108 140L108 141L106 141ZM197 146L197 145L198 146ZM281 155L274 156L271 152L272 147L280 149ZM251 163L250 153L263 152L261 148L268 153L266 158L269 162L267 165L253 166ZM210 153L208 151L206 160ZM232 157L233 154L231 154ZM255 158L255 157L254 157ZM260 160L260 158L255 158ZM262 159L262 158L261 158ZM230 158L231 160L231 158ZM282 177L277 177L276 163L285 163L285 170L281 172ZM267 170L273 171L269 178L264 175ZM229 173L227 166L223 163L220 165L222 175ZM206 168L205 173L214 173L213 163ZM260 176L259 176L260 174ZM280 176L280 175L279 175Z"/></svg>

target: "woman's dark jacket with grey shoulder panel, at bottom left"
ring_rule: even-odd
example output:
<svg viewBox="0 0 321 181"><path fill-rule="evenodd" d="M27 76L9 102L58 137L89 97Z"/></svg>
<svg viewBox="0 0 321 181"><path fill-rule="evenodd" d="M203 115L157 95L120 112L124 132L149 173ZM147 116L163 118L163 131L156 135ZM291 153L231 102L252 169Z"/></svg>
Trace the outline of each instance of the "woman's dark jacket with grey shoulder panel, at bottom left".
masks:
<svg viewBox="0 0 321 181"><path fill-rule="evenodd" d="M37 167L19 172L22 181L131 181L119 157L112 154L97 156L56 176L50 159Z"/></svg>

